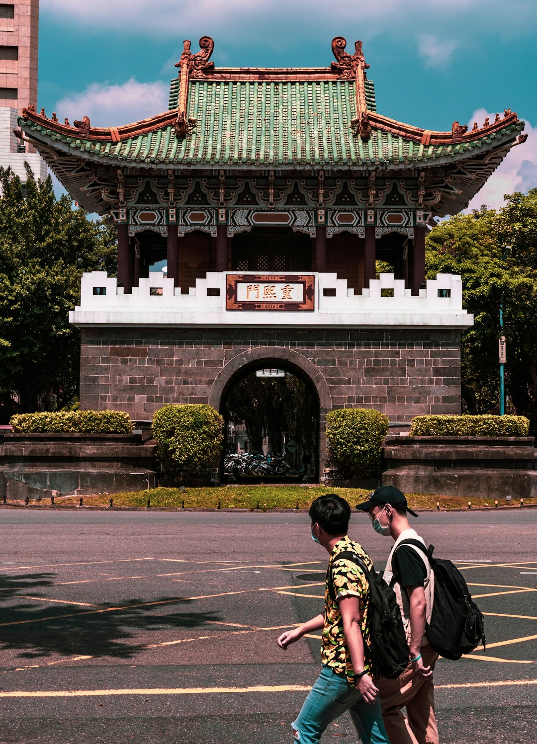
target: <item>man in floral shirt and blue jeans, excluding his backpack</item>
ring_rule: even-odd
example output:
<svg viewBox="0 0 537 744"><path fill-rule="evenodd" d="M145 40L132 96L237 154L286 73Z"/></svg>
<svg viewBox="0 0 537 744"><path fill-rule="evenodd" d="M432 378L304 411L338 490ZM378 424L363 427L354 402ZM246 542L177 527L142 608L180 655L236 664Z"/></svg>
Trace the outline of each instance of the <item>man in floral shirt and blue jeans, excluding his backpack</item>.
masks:
<svg viewBox="0 0 537 744"><path fill-rule="evenodd" d="M295 744L317 744L325 728L349 711L363 744L390 744L382 721L375 670L369 661L367 610L369 583L363 570L349 559L338 559L353 551L372 569L372 560L347 534L351 510L344 498L334 493L316 498L311 504L311 537L328 552L325 583L325 613L296 629L282 633L278 645L286 650L306 633L322 628L322 670L293 722ZM328 591L330 575L336 589L334 600Z"/></svg>

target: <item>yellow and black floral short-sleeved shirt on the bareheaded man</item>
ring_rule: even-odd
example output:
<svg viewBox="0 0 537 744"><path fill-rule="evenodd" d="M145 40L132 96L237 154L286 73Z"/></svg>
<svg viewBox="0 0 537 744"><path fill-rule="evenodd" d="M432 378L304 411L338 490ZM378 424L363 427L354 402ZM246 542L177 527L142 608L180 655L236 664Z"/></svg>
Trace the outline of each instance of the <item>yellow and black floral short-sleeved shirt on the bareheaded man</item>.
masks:
<svg viewBox="0 0 537 744"><path fill-rule="evenodd" d="M355 679L355 670L352 668L352 661L349 649L346 644L345 633L343 632L343 619L341 618L340 608L337 600L340 597L355 596L360 597L360 629L363 637L364 664L366 672L373 676L374 670L371 666L370 654L367 650L370 647L369 629L367 628L367 609L369 600L369 582L360 566L352 560L337 556L343 551L355 552L366 564L367 568L372 569L373 562L363 550L358 542L353 542L348 535L340 539L332 549L330 561L328 562L328 571L325 582L325 624L322 629L322 647L321 661L327 667L331 667L337 674L344 674L349 684L358 686L358 680ZM334 589L336 590L336 599L331 600L328 592L328 572L332 572Z"/></svg>

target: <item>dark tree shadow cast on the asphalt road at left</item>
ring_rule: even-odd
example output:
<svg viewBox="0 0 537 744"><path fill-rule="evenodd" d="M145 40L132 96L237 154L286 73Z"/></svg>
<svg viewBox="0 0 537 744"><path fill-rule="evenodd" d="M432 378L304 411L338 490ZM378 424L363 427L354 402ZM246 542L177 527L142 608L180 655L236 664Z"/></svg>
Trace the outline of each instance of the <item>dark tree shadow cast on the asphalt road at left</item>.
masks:
<svg viewBox="0 0 537 744"><path fill-rule="evenodd" d="M132 658L147 647L130 639L140 631L203 626L220 620L215 612L184 612L191 600L181 597L131 597L98 606L61 605L25 600L45 596L55 574L0 577L0 647L17 650L20 658L76 654ZM19 603L13 600L19 597ZM10 600L6 606L6 600ZM172 606L174 609L172 610Z"/></svg>

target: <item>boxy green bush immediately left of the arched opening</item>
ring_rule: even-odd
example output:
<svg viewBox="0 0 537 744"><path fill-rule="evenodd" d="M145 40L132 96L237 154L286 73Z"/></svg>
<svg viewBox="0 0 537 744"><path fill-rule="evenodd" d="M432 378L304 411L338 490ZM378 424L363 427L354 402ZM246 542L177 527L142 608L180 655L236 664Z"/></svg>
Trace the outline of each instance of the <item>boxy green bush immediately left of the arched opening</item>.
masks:
<svg viewBox="0 0 537 744"><path fill-rule="evenodd" d="M217 465L223 418L212 405L165 405L154 414L152 429L162 475L200 478Z"/></svg>

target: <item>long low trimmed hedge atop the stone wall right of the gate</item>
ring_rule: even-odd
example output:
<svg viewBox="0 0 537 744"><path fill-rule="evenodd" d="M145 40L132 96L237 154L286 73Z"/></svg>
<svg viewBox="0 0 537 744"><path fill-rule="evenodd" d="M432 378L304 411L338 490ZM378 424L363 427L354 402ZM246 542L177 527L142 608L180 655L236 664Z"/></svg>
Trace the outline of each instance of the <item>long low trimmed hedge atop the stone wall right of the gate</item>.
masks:
<svg viewBox="0 0 537 744"><path fill-rule="evenodd" d="M527 437L525 416L415 416L411 437Z"/></svg>

